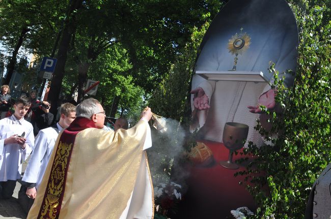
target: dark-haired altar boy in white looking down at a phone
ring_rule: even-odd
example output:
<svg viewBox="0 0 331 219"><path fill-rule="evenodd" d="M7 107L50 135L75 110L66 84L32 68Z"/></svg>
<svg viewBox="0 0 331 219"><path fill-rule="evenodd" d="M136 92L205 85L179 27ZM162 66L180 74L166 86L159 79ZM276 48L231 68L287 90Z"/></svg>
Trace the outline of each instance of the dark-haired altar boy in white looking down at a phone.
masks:
<svg viewBox="0 0 331 219"><path fill-rule="evenodd" d="M1 198L9 199L16 180L21 178L22 162L30 155L35 137L32 124L24 120L31 102L23 96L16 100L12 116L0 120Z"/></svg>

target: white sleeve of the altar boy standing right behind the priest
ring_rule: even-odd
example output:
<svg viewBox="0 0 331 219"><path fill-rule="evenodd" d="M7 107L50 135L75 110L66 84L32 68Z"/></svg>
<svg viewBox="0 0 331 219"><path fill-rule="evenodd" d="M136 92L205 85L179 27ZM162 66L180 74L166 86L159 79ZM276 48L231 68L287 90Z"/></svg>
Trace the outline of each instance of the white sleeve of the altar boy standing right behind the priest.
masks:
<svg viewBox="0 0 331 219"><path fill-rule="evenodd" d="M30 183L37 182L41 161L44 158L46 151L47 151L47 136L44 132L39 132L36 137L35 147L31 154L29 164L27 164L22 181L30 182Z"/></svg>

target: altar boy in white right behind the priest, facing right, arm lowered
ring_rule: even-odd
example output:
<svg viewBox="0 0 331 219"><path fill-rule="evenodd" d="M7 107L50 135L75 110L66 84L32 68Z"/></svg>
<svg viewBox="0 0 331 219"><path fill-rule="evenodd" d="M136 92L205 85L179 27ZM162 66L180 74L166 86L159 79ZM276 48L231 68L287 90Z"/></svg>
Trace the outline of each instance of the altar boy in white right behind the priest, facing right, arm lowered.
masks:
<svg viewBox="0 0 331 219"><path fill-rule="evenodd" d="M22 181L27 187L26 195L35 199L40 182L44 176L50 155L59 133L69 127L76 118L76 107L71 103L62 104L60 108L60 121L54 126L39 131L35 148L27 164Z"/></svg>

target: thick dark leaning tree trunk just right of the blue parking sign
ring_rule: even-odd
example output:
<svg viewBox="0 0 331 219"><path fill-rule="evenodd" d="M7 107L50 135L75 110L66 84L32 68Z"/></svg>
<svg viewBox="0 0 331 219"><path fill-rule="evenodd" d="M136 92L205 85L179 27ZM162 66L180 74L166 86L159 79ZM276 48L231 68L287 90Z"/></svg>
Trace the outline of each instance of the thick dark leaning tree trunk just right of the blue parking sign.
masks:
<svg viewBox="0 0 331 219"><path fill-rule="evenodd" d="M82 4L82 0L71 1L70 10L68 11L68 22L65 24L63 29L62 39L59 45L58 51L58 61L53 73L53 77L51 80L51 86L48 94L48 100L50 100L53 104L51 105L50 112L56 113L58 108L58 99L60 96L62 80L64 77L64 70L67 61L67 51L69 48L69 43L72 37L72 34L75 32L76 24L74 22L74 15L72 12L79 9Z"/></svg>

